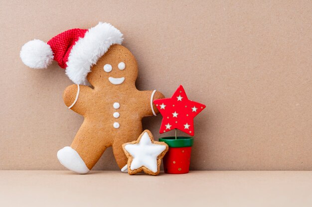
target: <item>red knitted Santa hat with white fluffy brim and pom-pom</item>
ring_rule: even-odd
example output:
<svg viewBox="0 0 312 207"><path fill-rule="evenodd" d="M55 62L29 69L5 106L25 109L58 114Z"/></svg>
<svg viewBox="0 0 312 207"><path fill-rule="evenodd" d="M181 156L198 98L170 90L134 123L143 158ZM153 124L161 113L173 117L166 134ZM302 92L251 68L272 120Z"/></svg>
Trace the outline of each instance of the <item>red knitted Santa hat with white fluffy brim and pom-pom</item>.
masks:
<svg viewBox="0 0 312 207"><path fill-rule="evenodd" d="M122 41L123 34L118 29L100 22L90 29L67 30L47 43L31 40L21 48L20 58L33 69L46 69L54 60L74 83L86 85L91 66L111 45L121 44Z"/></svg>

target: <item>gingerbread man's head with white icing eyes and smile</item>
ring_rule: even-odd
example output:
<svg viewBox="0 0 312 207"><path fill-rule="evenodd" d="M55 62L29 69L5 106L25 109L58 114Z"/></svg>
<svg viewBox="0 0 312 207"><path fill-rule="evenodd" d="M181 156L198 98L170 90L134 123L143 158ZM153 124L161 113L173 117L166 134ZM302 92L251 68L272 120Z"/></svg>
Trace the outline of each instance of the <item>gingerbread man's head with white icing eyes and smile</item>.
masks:
<svg viewBox="0 0 312 207"><path fill-rule="evenodd" d="M135 86L138 65L132 53L122 45L112 45L96 65L91 68L87 78L94 87Z"/></svg>

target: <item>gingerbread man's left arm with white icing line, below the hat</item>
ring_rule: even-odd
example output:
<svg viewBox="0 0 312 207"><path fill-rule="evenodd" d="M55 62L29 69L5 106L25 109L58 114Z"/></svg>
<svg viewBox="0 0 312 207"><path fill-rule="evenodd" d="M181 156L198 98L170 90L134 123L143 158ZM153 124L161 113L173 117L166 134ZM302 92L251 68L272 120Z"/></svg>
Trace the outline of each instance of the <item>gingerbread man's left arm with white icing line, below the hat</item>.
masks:
<svg viewBox="0 0 312 207"><path fill-rule="evenodd" d="M87 110L86 103L92 93L92 88L85 85L73 84L64 90L63 100L65 105L74 112L84 115Z"/></svg>

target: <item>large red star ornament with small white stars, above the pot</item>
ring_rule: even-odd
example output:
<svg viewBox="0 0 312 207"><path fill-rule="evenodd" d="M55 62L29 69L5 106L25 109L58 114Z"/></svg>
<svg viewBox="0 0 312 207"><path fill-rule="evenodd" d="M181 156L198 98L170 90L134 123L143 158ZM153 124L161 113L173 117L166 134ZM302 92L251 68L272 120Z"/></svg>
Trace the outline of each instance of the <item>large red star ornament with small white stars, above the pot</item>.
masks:
<svg viewBox="0 0 312 207"><path fill-rule="evenodd" d="M154 100L154 104L162 115L160 134L178 129L190 136L194 136L194 117L206 107L188 100L182 85L176 89L171 98Z"/></svg>

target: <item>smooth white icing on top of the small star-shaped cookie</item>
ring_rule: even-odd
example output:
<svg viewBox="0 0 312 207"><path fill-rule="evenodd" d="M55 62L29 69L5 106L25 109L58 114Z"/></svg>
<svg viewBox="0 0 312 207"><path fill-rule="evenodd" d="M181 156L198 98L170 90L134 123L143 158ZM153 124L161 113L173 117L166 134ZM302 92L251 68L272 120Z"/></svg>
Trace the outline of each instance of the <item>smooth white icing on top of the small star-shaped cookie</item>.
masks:
<svg viewBox="0 0 312 207"><path fill-rule="evenodd" d="M137 144L127 144L125 149L133 156L130 169L135 170L145 166L153 172L157 172L157 157L161 154L166 146L153 144L149 134L143 134L140 142Z"/></svg>

